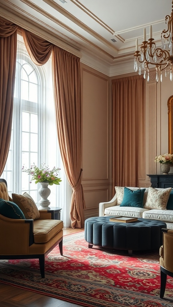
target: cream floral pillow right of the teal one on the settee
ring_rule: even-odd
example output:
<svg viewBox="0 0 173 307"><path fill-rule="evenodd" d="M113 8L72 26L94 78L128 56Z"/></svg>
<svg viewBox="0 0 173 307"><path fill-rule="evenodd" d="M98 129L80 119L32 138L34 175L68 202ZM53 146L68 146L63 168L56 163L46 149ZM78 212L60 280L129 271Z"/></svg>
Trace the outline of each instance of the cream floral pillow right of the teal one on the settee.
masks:
<svg viewBox="0 0 173 307"><path fill-rule="evenodd" d="M157 190L155 188L148 188L147 201L144 208L166 210L167 201L172 188Z"/></svg>

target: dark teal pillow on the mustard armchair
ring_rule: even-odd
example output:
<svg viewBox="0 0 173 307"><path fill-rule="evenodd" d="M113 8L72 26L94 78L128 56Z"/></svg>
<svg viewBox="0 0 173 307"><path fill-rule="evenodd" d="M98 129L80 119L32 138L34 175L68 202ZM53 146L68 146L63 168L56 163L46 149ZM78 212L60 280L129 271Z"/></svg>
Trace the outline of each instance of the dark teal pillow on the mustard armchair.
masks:
<svg viewBox="0 0 173 307"><path fill-rule="evenodd" d="M12 201L7 201L0 198L0 214L9 217L10 219L26 220L22 210Z"/></svg>

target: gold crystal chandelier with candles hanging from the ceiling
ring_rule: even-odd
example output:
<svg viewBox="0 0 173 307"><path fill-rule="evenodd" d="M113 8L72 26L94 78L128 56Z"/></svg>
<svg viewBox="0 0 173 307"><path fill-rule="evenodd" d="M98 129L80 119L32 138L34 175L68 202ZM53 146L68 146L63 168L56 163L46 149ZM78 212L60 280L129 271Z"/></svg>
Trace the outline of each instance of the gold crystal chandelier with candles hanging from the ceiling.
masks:
<svg viewBox="0 0 173 307"><path fill-rule="evenodd" d="M160 74L160 81L162 82L162 72L164 70L165 76L170 75L170 80L173 79L173 0L172 0L172 12L171 16L165 17L165 23L167 24L167 30L163 30L161 33L161 48L156 48L154 38L152 38L152 26L150 26L150 38L146 40L146 29L143 31L143 42L138 50L138 39L136 39L136 51L134 54L134 69L135 72L139 69L139 75L141 75L141 68L144 69L144 79L147 77L149 81L149 67L148 65L155 65L156 69L156 82L158 82ZM166 43L165 43L166 42Z"/></svg>

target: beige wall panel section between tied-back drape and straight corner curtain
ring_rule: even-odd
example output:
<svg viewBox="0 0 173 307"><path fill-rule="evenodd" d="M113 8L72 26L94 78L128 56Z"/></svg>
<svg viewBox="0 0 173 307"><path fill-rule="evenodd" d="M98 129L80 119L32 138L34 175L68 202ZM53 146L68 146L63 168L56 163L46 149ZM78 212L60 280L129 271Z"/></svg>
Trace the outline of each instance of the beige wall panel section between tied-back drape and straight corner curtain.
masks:
<svg viewBox="0 0 173 307"><path fill-rule="evenodd" d="M82 186L85 218L98 216L111 186L109 77L82 64Z"/></svg>

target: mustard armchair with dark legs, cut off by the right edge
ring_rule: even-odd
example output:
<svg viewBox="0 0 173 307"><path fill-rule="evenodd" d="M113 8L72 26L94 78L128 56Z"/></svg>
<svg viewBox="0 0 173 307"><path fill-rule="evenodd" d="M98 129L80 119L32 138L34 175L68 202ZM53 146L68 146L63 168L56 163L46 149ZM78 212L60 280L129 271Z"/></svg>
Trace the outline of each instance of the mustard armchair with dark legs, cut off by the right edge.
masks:
<svg viewBox="0 0 173 307"><path fill-rule="evenodd" d="M165 294L167 275L173 277L173 230L162 229L163 245L160 247L160 298Z"/></svg>

